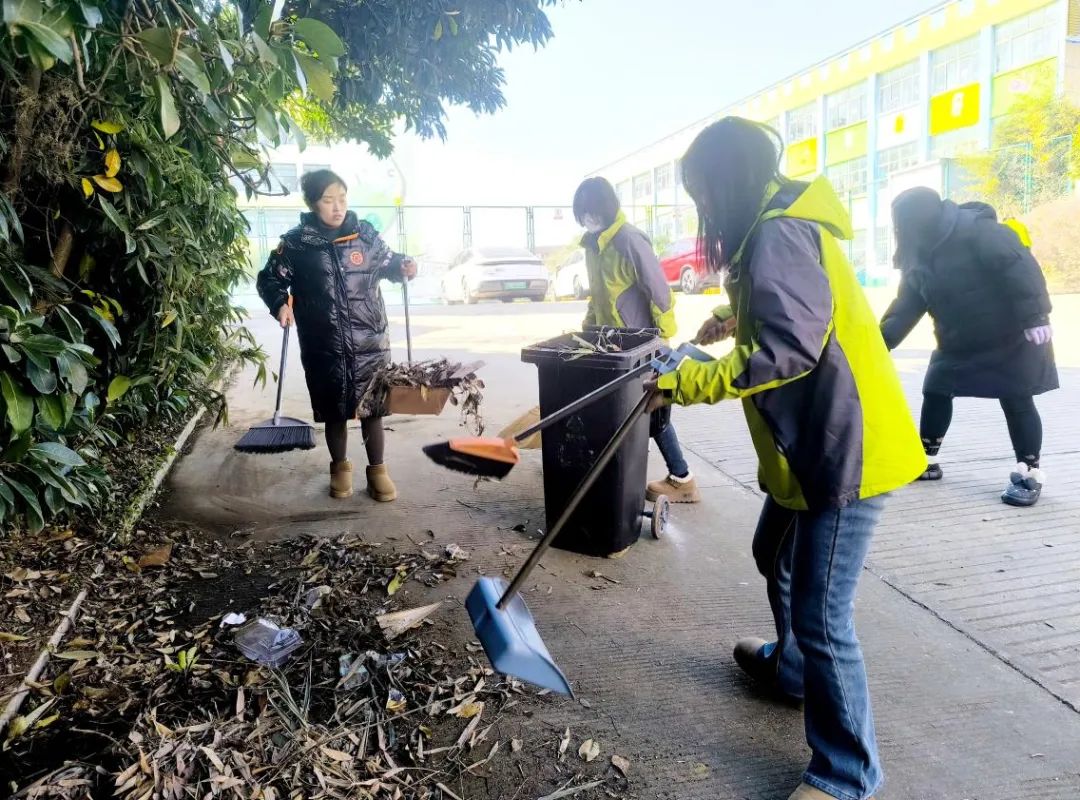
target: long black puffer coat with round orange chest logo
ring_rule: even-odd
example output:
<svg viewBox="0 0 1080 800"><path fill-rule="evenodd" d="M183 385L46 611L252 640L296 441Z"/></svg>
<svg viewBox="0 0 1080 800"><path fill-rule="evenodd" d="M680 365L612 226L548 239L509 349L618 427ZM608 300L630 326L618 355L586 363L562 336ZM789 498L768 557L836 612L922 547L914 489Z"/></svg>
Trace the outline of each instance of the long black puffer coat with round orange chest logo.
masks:
<svg viewBox="0 0 1080 800"><path fill-rule="evenodd" d="M259 297L278 315L293 295L311 410L316 422L354 419L375 371L390 361L379 281L402 280L403 256L352 212L333 242L313 214L282 236L259 272Z"/></svg>

